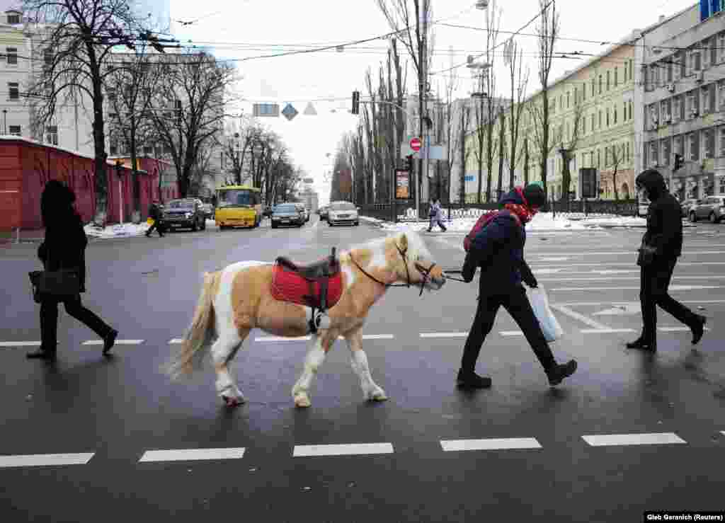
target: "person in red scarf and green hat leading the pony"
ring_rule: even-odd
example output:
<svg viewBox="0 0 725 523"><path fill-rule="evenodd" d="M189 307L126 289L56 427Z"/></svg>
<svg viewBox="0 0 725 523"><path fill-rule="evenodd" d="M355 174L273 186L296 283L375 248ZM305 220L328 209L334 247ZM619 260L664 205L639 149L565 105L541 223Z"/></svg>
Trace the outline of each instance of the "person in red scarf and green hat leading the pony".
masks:
<svg viewBox="0 0 725 523"><path fill-rule="evenodd" d="M544 367L550 385L558 385L565 377L576 371L576 361L557 364L539 320L531 309L523 280L531 288L538 286L537 279L523 259L526 243L524 225L529 222L539 207L546 201L544 190L536 184L526 188L514 188L503 196L502 212L481 229L471 243L463 264L463 280L470 282L481 267L479 279L479 305L468 338L463 348L463 359L457 376L457 383L467 388L489 388L491 378L476 374L476 359L486 335L491 332L500 306L513 317L521 327L523 335Z"/></svg>

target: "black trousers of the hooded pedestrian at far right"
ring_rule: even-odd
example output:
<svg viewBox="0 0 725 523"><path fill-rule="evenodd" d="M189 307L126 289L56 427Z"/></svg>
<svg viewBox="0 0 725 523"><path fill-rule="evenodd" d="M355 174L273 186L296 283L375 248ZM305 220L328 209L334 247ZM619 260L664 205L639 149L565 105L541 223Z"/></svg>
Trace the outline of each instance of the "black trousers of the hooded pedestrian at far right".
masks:
<svg viewBox="0 0 725 523"><path fill-rule="evenodd" d="M697 314L676 301L667 293L672 280L676 258L659 259L647 267L642 267L639 275L639 303L642 305L642 339L657 339L657 309L660 306L688 327L695 323Z"/></svg>

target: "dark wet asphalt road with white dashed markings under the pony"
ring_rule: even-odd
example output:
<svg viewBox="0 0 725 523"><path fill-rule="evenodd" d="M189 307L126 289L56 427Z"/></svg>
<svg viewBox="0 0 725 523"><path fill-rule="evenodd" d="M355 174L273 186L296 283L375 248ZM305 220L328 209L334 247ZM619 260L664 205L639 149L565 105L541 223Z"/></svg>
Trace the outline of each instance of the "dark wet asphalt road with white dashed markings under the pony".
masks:
<svg viewBox="0 0 725 523"><path fill-rule="evenodd" d="M725 225L687 230L675 272L672 294L709 318L697 351L664 313L658 353L624 348L640 327L642 230L542 233L526 257L566 331L552 348L579 361L558 388L505 311L479 358L492 389L455 388L477 290L455 281L422 298L394 288L371 309L364 345L385 403L362 401L338 342L312 407L294 409L307 343L262 332L235 360L239 409L221 405L210 369L170 382L159 367L202 272L279 254L312 261L382 235L316 219L92 242L83 301L128 343L104 359L61 311L54 365L22 346L40 339L26 276L37 246L1 248L0 521L609 523L725 508ZM460 267L463 235L424 238L439 264Z"/></svg>

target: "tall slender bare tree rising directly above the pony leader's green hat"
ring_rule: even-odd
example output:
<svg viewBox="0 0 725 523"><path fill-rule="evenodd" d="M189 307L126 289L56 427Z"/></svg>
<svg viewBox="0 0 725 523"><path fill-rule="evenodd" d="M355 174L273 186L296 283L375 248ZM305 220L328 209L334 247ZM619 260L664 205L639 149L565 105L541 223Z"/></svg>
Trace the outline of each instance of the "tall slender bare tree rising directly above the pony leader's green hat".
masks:
<svg viewBox="0 0 725 523"><path fill-rule="evenodd" d="M554 57L554 46L559 37L559 13L556 10L555 0L539 0L541 13L539 14L539 25L537 35L539 43L539 84L541 85L542 105L539 110L532 113L536 115L534 128L535 141L537 142L537 153L539 156L539 168L541 179L544 184L544 193L547 193L547 163L551 150L550 144L550 114L549 114L549 73L551 72L552 59Z"/></svg>

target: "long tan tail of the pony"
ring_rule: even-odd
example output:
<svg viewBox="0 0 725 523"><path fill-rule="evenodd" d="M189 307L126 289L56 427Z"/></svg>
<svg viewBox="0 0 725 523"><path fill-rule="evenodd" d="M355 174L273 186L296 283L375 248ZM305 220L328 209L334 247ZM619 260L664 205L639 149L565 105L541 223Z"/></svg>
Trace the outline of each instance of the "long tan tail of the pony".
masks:
<svg viewBox="0 0 725 523"><path fill-rule="evenodd" d="M194 319L181 342L181 349L175 353L168 364L166 372L173 379L183 375L190 375L194 369L201 366L204 359L202 349L209 348L215 337L214 297L219 288L222 272L204 272L204 285L202 296L194 310Z"/></svg>

